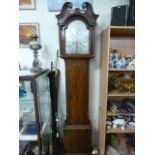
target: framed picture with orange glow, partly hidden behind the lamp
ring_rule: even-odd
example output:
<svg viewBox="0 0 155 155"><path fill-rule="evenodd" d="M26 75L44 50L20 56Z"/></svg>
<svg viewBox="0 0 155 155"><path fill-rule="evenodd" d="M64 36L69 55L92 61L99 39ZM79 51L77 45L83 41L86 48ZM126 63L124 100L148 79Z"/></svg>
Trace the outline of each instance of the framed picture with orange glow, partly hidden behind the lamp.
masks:
<svg viewBox="0 0 155 155"><path fill-rule="evenodd" d="M29 47L30 36L37 34L39 36L39 24L38 23L20 23L19 24L19 47Z"/></svg>

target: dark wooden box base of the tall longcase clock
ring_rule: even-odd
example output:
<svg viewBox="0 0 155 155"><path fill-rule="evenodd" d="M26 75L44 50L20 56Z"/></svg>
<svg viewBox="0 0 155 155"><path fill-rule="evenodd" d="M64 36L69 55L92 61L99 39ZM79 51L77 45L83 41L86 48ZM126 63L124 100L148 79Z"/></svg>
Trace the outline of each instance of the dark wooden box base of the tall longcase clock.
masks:
<svg viewBox="0 0 155 155"><path fill-rule="evenodd" d="M91 151L91 126L65 125L64 154L90 154Z"/></svg>

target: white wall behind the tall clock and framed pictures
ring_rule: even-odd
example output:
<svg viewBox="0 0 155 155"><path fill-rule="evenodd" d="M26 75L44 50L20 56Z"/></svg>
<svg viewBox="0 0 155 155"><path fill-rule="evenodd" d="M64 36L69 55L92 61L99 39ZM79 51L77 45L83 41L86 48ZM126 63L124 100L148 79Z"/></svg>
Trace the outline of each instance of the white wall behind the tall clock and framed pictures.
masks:
<svg viewBox="0 0 155 155"><path fill-rule="evenodd" d="M92 142L98 142L98 105L99 105L99 64L100 64L100 34L110 25L111 7L128 4L129 0L94 0L94 12L99 15L96 27L96 57L90 61L90 98L89 98L89 117L93 127ZM36 0L36 10L20 10L19 22L37 22L40 25L40 37L42 49L39 50L39 58L43 63L43 68L50 68L51 61L56 60L56 51L59 49L58 26L55 15L59 12L48 12L47 0ZM32 66L33 53L28 48L19 49L20 65L22 69ZM60 126L62 129L63 120L66 117L65 106L65 70L64 61L59 58L58 68L61 72L60 93L59 93L59 113Z"/></svg>

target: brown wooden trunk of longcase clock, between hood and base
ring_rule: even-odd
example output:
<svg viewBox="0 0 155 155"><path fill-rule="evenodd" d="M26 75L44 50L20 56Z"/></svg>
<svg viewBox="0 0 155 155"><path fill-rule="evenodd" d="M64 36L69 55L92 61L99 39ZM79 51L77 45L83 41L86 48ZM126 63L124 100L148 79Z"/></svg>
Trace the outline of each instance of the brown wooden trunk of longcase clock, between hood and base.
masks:
<svg viewBox="0 0 155 155"><path fill-rule="evenodd" d="M88 61L66 61L67 120L88 124Z"/></svg>

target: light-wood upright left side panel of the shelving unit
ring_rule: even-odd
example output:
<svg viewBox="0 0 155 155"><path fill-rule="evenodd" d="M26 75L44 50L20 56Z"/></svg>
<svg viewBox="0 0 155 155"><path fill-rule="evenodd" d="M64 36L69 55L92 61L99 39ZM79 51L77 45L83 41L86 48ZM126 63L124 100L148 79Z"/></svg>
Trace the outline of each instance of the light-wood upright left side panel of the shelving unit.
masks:
<svg viewBox="0 0 155 155"><path fill-rule="evenodd" d="M106 109L108 93L108 57L110 41L110 28L107 28L102 34L102 51L100 73L100 108L99 108L99 154L105 154L105 133L106 133Z"/></svg>

